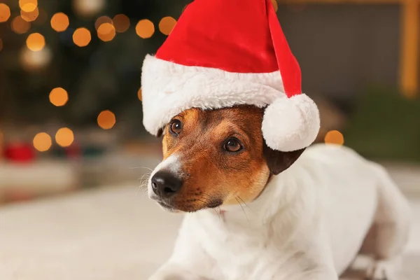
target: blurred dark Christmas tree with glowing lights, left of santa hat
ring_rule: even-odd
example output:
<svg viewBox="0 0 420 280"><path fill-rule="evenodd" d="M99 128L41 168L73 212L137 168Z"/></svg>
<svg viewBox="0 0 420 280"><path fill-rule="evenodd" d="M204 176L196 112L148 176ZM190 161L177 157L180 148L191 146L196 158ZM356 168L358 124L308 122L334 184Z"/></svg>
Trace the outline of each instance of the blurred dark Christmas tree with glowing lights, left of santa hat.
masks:
<svg viewBox="0 0 420 280"><path fill-rule="evenodd" d="M86 127L110 110L141 132L142 60L188 2L0 0L0 125Z"/></svg>

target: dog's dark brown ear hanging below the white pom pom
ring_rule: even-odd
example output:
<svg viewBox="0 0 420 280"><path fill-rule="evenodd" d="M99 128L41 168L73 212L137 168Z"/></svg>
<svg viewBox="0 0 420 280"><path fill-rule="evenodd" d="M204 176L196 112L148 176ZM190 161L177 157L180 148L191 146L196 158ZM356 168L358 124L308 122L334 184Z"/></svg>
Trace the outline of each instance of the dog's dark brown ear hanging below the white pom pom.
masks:
<svg viewBox="0 0 420 280"><path fill-rule="evenodd" d="M264 153L264 158L267 162L269 171L272 174L277 175L293 165L293 163L300 157L300 155L302 155L304 150L305 148L292 152L276 151L272 148L269 148L269 146L267 146L264 141L262 153Z"/></svg>

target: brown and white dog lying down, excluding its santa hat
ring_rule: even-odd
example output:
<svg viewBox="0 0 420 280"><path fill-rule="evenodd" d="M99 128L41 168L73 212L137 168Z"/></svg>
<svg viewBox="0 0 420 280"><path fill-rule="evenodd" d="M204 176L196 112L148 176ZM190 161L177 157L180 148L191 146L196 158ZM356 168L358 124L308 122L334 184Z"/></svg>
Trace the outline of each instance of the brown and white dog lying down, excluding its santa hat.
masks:
<svg viewBox="0 0 420 280"><path fill-rule="evenodd" d="M358 254L366 279L400 280L409 206L385 169L336 145L274 151L264 109L188 109L162 130L148 195L186 215L150 280L337 280Z"/></svg>

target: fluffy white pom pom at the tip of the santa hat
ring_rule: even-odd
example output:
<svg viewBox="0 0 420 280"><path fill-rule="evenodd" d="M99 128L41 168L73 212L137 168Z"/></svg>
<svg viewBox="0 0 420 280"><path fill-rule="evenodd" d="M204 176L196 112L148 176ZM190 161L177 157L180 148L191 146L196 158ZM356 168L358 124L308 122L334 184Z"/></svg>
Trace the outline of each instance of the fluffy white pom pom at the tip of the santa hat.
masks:
<svg viewBox="0 0 420 280"><path fill-rule="evenodd" d="M296 151L314 142L320 125L315 102L306 94L298 94L276 99L265 109L262 135L269 148Z"/></svg>

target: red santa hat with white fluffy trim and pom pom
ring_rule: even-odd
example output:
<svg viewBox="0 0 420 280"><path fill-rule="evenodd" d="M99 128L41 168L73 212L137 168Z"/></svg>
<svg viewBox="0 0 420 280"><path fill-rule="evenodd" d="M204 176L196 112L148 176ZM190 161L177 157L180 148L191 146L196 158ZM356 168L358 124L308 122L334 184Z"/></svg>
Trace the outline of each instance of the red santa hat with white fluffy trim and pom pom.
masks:
<svg viewBox="0 0 420 280"><path fill-rule="evenodd" d="M151 134L186 109L266 107L267 146L309 146L320 126L271 0L195 0L155 56L144 60L144 126Z"/></svg>

